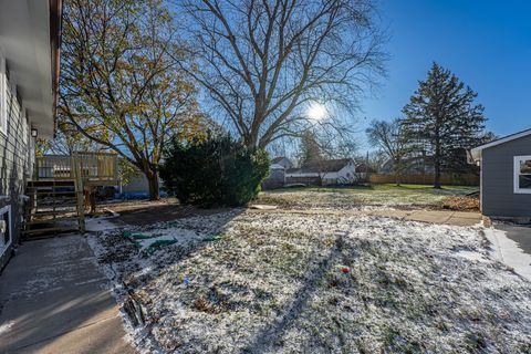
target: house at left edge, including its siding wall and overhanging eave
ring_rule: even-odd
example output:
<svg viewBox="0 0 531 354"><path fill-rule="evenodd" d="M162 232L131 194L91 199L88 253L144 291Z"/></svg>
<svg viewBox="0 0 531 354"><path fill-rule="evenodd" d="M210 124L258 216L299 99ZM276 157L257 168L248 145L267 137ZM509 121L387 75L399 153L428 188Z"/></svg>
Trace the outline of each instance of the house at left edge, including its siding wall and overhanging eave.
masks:
<svg viewBox="0 0 531 354"><path fill-rule="evenodd" d="M19 242L35 137L51 137L60 0L0 0L0 269Z"/></svg>

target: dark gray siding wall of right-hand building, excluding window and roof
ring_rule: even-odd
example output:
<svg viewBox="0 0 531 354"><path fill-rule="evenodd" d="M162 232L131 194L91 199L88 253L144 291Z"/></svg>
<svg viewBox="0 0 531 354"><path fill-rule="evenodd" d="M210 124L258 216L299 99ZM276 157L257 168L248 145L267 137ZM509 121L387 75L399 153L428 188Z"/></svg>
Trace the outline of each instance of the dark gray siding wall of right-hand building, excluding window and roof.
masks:
<svg viewBox="0 0 531 354"><path fill-rule="evenodd" d="M497 217L531 217L531 194L514 194L514 156L531 155L531 136L482 150L481 211Z"/></svg>

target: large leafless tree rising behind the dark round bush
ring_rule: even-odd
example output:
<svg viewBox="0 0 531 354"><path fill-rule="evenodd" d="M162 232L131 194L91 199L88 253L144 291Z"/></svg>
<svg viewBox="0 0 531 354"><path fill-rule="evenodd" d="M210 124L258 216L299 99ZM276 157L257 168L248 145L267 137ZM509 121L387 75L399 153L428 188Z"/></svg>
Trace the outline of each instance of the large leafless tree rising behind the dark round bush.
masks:
<svg viewBox="0 0 531 354"><path fill-rule="evenodd" d="M188 0L184 9L196 59L186 70L248 146L300 137L317 103L346 112L327 124L348 128L356 97L384 73L372 0Z"/></svg>

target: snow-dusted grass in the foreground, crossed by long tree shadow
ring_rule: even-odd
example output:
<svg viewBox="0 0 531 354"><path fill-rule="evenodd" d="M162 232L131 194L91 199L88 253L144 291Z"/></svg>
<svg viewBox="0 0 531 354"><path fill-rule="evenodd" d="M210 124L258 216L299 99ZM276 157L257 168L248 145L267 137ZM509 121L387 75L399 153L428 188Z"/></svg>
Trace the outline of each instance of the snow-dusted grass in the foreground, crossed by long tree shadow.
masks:
<svg viewBox="0 0 531 354"><path fill-rule="evenodd" d="M531 283L479 227L366 216L227 212L91 239L144 353L531 351ZM475 254L471 257L471 254Z"/></svg>

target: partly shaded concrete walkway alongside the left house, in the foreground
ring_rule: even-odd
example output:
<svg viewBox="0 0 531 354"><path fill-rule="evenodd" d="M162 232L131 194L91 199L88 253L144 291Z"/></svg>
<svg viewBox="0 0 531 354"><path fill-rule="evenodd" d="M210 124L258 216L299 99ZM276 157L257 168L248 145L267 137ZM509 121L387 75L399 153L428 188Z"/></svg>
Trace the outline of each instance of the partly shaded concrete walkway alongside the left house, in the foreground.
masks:
<svg viewBox="0 0 531 354"><path fill-rule="evenodd" d="M0 275L0 353L135 353L81 236L31 241Z"/></svg>

